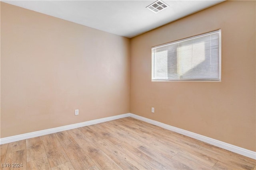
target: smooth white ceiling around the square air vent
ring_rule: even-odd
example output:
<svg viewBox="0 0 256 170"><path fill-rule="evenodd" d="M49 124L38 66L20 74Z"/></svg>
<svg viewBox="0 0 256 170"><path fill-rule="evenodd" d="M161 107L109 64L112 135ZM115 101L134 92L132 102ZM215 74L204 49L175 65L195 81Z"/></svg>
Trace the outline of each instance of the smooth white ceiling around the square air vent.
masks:
<svg viewBox="0 0 256 170"><path fill-rule="evenodd" d="M155 14L146 9L155 0L2 0L8 4L134 37L208 8L224 0L163 0L170 7Z"/></svg>

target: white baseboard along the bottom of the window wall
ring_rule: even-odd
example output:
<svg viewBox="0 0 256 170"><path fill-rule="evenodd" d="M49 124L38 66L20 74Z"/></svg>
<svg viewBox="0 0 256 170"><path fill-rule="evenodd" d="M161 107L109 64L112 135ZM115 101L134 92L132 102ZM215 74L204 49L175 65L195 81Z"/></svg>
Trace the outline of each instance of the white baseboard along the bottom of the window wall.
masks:
<svg viewBox="0 0 256 170"><path fill-rule="evenodd" d="M241 148L241 147L237 147L237 146L231 145L229 143L225 143L225 142L222 142L222 141L218 141L216 139L212 139L210 137L206 137L206 136L203 136L203 135L199 135L197 133L186 131L186 130L180 129L178 127L173 127L173 126L170 126L170 125L166 125L164 123L161 123L161 122L158 122L158 121L155 121L155 120L152 120L152 119L148 119L148 118L145 118L145 117L141 117L141 116L138 116L138 115L134 115L132 113L130 113L130 116L135 118L135 119L139 119L141 121L145 121L147 123L151 123L153 125L162 127L164 129L168 129L170 131L174 131L176 133L180 133L182 135L185 135L185 136L188 136L188 137L192 137L192 138L197 139L199 141L203 141L205 143L209 143L209 144L214 145L216 147L220 147L222 149L226 149L226 150L229 150L231 152L235 152L235 153L247 156L249 158L256 159L256 152L254 152L252 150L248 150L248 149L244 149L244 148Z"/></svg>

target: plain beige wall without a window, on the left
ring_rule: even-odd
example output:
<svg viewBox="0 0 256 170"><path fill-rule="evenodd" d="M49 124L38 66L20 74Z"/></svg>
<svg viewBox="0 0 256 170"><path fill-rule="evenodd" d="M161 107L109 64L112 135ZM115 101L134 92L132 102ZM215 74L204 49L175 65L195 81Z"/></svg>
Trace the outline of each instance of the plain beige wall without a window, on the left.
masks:
<svg viewBox="0 0 256 170"><path fill-rule="evenodd" d="M128 113L129 97L130 39L1 2L1 138Z"/></svg>

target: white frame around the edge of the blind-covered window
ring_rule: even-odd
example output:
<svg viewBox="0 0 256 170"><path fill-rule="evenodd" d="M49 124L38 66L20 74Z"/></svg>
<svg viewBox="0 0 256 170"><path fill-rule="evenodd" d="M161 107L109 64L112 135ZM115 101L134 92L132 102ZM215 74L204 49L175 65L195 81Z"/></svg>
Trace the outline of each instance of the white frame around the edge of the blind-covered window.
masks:
<svg viewBox="0 0 256 170"><path fill-rule="evenodd" d="M180 43L182 41L186 41L186 40L190 40L190 39L194 39L194 38L197 38L197 37L203 37L203 36L206 36L206 35L210 35L210 34L213 34L213 33L219 33L219 80L203 80L203 79L154 79L154 66L153 66L153 52L152 50L157 48L157 47L164 47L164 46L167 46L167 45L170 45L170 44L174 44L174 43ZM179 40L176 40L176 41L172 41L172 42L169 42L169 43L164 43L164 44L161 44L161 45L156 45L154 47L151 47L151 81L152 82L221 82L221 61L222 61L222 52L221 52L221 48L222 48L222 44L221 44L221 29L216 29L214 31L210 31L210 32L207 32L207 33L202 33L200 35L195 35L195 36L191 36L191 37L187 37L187 38L184 38L184 39L179 39Z"/></svg>

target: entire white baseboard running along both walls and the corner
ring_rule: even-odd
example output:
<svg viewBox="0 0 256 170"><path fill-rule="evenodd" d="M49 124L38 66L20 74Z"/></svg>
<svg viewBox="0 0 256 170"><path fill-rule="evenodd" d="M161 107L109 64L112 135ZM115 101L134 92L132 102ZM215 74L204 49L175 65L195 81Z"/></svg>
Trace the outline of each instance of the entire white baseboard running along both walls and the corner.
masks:
<svg viewBox="0 0 256 170"><path fill-rule="evenodd" d="M86 122L82 122L82 123L76 123L76 124L72 124L72 125L66 125L66 126L61 126L61 127L56 127L56 128L52 128L52 129L45 129L42 131L36 131L36 132L31 132L31 133L24 133L21 135L15 135L15 136L11 136L11 137L5 137L5 138L1 138L0 139L0 145L5 144L5 143L11 143L11 142L15 142L15 141L20 141L20 140L24 140L24 139L29 139L32 137L38 137L38 136L42 136L42 135L48 135L51 133L56 133L56 132L61 132L61 131L66 131L66 130L70 130L70 129L75 129L78 127L83 127L83 126L88 126L88 125L94 125L97 123L102 123L102 122L106 122L106 121L111 121L111 120L115 120L115 119L120 119L120 118L124 118L124 117L133 117L135 119L139 119L141 121L145 121L147 123L151 123L153 125L162 127L164 129L168 129L170 131L174 131L176 133L180 133L182 135L188 136L188 137L192 137L194 139L197 139L199 141L203 141L205 143L209 143L211 145L247 156L249 158L253 158L256 160L256 152L252 151L252 150L248 150L248 149L244 149L241 147L237 147L235 145L231 145L222 141L218 141L216 139L212 139L210 137L206 137L203 135L199 135L197 133L193 133L190 131L186 131L184 129L180 129L178 127L173 127L171 125L166 125L164 123L152 120L152 119L148 119L145 117L141 117L132 113L126 113L126 114L122 114L122 115L116 115L116 116L111 116L111 117L105 117L102 119L95 119L95 120L91 120L91 121L86 121Z"/></svg>

